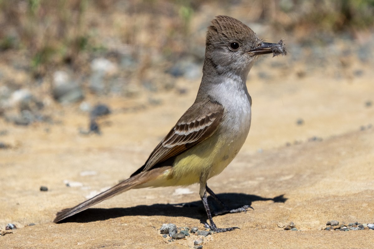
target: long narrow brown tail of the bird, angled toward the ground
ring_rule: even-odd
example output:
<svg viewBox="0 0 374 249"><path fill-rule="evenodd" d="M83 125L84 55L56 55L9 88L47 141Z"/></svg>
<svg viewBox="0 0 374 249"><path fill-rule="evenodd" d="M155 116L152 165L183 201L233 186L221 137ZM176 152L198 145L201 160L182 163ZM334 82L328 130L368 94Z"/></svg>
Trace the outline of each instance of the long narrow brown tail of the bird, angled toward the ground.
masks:
<svg viewBox="0 0 374 249"><path fill-rule="evenodd" d="M111 187L110 189L92 197L91 199L88 199L73 208L63 209L60 212L56 214L55 220L53 222L57 223L59 221L62 221L74 214L77 214L99 202L102 202L103 200L106 200L110 197L116 196L117 194L123 193L127 190L133 189L149 180L157 176L154 173L156 172L141 172L137 175L134 175L133 177L130 177L129 179L122 181L121 183L117 184L116 186Z"/></svg>

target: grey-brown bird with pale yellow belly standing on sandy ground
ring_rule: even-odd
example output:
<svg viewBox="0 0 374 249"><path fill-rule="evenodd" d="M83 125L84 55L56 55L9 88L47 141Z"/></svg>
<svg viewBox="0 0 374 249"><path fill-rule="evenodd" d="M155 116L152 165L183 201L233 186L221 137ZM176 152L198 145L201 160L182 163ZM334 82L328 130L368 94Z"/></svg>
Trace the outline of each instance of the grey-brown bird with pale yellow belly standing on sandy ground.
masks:
<svg viewBox="0 0 374 249"><path fill-rule="evenodd" d="M220 174L243 146L251 127L252 99L246 79L261 55L286 55L283 41L267 43L239 20L219 15L206 33L202 81L196 100L156 146L144 165L110 189L73 208L56 214L58 223L92 205L130 189L187 186L199 183L199 194L208 216L206 228L220 233L239 227L218 228L212 219L207 193L222 211L243 212L248 205L230 210L208 187L209 178Z"/></svg>

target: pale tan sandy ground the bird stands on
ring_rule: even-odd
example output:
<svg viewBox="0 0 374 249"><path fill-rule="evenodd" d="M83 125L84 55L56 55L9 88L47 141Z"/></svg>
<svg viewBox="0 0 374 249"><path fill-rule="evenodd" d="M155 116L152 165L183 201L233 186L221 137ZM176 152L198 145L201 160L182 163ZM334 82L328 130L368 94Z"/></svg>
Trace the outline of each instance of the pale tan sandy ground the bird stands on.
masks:
<svg viewBox="0 0 374 249"><path fill-rule="evenodd" d="M374 72L368 67L357 78L300 78L295 71L273 71L263 80L256 76L261 65L247 83L253 115L246 143L208 182L231 207L247 204L254 210L214 217L219 227L241 229L205 237L203 248L372 247L374 230L324 228L329 220L374 222L374 106L365 105L374 100ZM0 119L7 131L1 141L11 146L0 150L0 229L7 223L18 227L0 236L0 248L193 248L198 236L168 242L159 228L203 228L197 185L184 194L177 187L131 190L68 222L52 223L60 209L113 186L144 163L191 105L199 81L177 85L186 94L101 99L113 111L99 120L101 136L78 132L88 125L88 114L78 106L57 107L59 122L53 125L19 127ZM140 108L150 96L160 104ZM40 186L49 190L41 192ZM299 231L279 227L291 221Z"/></svg>

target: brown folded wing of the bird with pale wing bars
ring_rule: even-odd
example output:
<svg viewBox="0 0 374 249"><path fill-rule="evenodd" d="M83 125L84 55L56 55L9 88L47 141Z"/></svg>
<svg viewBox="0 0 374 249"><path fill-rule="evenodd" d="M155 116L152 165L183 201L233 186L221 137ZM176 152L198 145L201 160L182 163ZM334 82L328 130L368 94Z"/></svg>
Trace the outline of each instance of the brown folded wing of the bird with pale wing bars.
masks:
<svg viewBox="0 0 374 249"><path fill-rule="evenodd" d="M148 171L154 165L177 156L210 137L220 124L223 113L223 106L210 99L204 102L195 102L157 145L147 162L133 175L141 171Z"/></svg>

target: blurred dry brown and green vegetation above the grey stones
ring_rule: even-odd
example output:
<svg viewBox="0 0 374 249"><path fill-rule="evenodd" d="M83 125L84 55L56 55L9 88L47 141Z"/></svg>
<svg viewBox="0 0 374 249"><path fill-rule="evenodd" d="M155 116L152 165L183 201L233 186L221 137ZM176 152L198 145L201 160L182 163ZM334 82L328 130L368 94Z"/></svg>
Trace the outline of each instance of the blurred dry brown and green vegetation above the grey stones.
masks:
<svg viewBox="0 0 374 249"><path fill-rule="evenodd" d="M189 53L196 39L191 22L205 6L240 8L244 21L270 23L304 42L341 33L354 36L357 29L372 28L374 19L370 0L266 0L251 5L233 0L3 0L0 50L25 59L24 68L35 78L62 66L82 73L90 57L116 51L146 61L153 58L144 59L140 51L173 59Z"/></svg>

